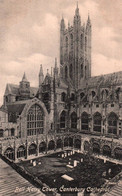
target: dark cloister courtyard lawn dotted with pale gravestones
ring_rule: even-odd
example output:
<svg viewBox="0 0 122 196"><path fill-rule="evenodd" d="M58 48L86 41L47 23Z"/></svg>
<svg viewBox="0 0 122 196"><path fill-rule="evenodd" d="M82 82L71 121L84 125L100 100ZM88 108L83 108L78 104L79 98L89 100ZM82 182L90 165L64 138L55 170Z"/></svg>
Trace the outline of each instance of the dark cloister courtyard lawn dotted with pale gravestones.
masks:
<svg viewBox="0 0 122 196"><path fill-rule="evenodd" d="M61 187L100 188L122 169L118 164L71 150L22 161L18 165L59 192Z"/></svg>

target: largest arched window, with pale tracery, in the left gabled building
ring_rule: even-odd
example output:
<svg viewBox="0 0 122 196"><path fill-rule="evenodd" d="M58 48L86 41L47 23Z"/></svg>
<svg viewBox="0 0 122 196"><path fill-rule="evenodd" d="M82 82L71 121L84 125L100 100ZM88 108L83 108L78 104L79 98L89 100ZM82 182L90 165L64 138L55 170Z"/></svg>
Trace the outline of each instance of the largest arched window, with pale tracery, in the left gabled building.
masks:
<svg viewBox="0 0 122 196"><path fill-rule="evenodd" d="M40 106L34 104L27 114L27 135L43 134L44 112Z"/></svg>

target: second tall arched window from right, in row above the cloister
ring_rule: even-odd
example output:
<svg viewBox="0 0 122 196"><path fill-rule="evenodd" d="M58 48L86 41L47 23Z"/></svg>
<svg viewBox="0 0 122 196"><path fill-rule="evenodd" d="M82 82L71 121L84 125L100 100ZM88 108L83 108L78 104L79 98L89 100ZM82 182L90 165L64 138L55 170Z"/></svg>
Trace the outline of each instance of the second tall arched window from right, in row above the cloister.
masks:
<svg viewBox="0 0 122 196"><path fill-rule="evenodd" d="M94 117L93 117L93 123L94 123L93 129L94 129L94 131L101 132L101 121L102 121L101 114L99 112L96 112Z"/></svg>

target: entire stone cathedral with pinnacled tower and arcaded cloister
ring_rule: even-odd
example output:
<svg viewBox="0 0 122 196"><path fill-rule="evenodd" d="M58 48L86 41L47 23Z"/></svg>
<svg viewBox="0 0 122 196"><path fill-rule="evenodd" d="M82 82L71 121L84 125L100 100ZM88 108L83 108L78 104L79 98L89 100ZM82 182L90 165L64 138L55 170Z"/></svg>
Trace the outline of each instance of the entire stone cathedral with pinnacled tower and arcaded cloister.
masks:
<svg viewBox="0 0 122 196"><path fill-rule="evenodd" d="M7 84L0 108L0 153L11 160L48 151L81 152L122 159L122 71L91 76L92 23L60 23L60 65L31 87L24 73L19 85Z"/></svg>

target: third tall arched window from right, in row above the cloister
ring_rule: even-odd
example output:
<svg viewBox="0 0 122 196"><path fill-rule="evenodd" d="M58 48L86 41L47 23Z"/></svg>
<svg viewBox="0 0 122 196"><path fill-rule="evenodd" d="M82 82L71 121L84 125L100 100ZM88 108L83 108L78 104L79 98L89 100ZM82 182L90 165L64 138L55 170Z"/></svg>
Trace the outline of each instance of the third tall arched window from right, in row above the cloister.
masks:
<svg viewBox="0 0 122 196"><path fill-rule="evenodd" d="M86 112L83 112L81 116L81 129L88 130L89 129L89 117Z"/></svg>

